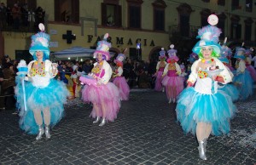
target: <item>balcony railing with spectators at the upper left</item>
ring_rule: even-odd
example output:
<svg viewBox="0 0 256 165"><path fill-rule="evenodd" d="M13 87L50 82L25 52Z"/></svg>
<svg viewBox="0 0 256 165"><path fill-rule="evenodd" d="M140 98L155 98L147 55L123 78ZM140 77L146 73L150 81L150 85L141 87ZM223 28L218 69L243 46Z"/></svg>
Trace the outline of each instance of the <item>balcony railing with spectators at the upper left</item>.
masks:
<svg viewBox="0 0 256 165"><path fill-rule="evenodd" d="M0 13L0 30L18 32L38 32L38 24L45 24L45 18L45 15L34 13Z"/></svg>

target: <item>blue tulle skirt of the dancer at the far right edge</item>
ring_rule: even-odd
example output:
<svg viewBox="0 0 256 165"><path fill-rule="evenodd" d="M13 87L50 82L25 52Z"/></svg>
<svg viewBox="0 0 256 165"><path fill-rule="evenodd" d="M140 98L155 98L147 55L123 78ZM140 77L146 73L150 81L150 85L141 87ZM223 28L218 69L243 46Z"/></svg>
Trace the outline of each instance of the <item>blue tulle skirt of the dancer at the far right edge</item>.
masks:
<svg viewBox="0 0 256 165"><path fill-rule="evenodd" d="M233 83L236 84L236 87L239 90L240 100L247 100L249 96L253 95L253 78L249 71L246 70L244 73L235 76Z"/></svg>

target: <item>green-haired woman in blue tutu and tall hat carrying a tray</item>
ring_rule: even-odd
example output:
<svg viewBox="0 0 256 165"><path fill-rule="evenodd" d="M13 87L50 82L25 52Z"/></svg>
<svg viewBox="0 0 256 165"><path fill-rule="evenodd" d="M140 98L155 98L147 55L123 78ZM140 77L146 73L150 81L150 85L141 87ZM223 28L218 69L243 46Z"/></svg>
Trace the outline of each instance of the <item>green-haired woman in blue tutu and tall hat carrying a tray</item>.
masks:
<svg viewBox="0 0 256 165"><path fill-rule="evenodd" d="M230 118L236 111L230 96L218 91L218 83L231 82L230 72L216 58L220 54L218 37L221 31L214 26L218 17L212 14L208 22L212 26L204 26L198 31L201 40L192 50L200 59L192 65L188 87L178 96L176 107L177 121L180 122L183 132L196 135L202 160L207 160L209 135L228 134Z"/></svg>

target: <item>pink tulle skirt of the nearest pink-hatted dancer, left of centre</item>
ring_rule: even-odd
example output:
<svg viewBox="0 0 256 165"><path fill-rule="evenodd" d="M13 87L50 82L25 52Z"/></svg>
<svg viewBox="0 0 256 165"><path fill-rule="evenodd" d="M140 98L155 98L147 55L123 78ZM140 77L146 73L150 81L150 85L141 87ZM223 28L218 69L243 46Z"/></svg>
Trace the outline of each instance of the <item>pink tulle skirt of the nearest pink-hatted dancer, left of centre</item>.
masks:
<svg viewBox="0 0 256 165"><path fill-rule="evenodd" d="M82 100L93 104L90 117L103 117L102 110L105 110L107 121L113 122L120 109L119 89L113 84L85 85L82 90Z"/></svg>

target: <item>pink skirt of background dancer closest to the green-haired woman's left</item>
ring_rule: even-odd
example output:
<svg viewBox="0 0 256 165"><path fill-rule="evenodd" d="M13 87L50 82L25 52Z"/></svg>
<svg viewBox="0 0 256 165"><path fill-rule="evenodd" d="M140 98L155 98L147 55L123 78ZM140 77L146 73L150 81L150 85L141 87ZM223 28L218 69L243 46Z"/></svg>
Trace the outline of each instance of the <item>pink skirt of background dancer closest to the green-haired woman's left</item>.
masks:
<svg viewBox="0 0 256 165"><path fill-rule="evenodd" d="M184 77L164 77L162 84L166 87L168 100L177 99L177 95L183 91Z"/></svg>

